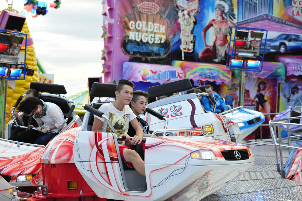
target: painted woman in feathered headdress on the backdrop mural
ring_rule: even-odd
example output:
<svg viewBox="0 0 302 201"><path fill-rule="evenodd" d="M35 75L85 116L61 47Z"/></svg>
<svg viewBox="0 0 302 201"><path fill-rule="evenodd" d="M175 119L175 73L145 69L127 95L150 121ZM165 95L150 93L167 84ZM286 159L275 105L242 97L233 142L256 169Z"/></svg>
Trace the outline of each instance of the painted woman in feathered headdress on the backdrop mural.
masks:
<svg viewBox="0 0 302 201"><path fill-rule="evenodd" d="M227 36L230 35L230 27L236 26L232 22L236 17L231 0L217 0L215 3L215 14L217 18L211 20L204 30L202 30L202 39L206 48L199 53L200 60L207 60L215 55L217 58L213 61L220 62L224 60L224 54L229 43ZM206 41L206 32L211 27L213 27L215 35L213 46L207 45Z"/></svg>

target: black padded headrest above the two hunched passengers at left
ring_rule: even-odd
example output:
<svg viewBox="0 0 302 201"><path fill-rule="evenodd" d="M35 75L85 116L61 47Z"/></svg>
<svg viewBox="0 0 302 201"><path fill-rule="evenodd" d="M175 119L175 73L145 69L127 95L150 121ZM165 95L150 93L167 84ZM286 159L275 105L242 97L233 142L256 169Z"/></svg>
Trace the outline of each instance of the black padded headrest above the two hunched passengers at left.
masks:
<svg viewBox="0 0 302 201"><path fill-rule="evenodd" d="M31 89L37 89L39 92L47 92L54 94L66 94L66 89L63 85L60 84L48 84L40 82L31 82Z"/></svg>

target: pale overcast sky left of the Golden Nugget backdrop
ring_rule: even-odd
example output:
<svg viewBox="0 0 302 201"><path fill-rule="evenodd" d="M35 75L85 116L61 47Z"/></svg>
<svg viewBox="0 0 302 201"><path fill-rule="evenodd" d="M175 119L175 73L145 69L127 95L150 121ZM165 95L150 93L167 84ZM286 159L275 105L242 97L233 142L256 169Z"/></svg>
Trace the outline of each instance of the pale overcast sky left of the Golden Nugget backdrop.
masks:
<svg viewBox="0 0 302 201"><path fill-rule="evenodd" d="M10 2L11 0L8 0ZM24 0L14 0L21 11ZM44 0L44 2L53 2ZM103 49L101 0L62 0L60 8L49 8L44 16L28 16L36 57L54 83L63 84L67 96L87 89L88 77L100 77ZM0 8L7 8L2 0Z"/></svg>

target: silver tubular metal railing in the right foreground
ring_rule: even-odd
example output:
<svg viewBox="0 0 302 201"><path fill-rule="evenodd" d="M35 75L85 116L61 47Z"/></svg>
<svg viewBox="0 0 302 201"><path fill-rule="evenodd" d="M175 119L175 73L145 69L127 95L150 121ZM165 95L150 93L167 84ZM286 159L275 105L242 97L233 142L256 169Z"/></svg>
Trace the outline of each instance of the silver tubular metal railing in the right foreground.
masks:
<svg viewBox="0 0 302 201"><path fill-rule="evenodd" d="M281 178L285 178L282 148L288 148L289 152L290 152L290 149L296 149L296 150L302 151L302 148L291 146L291 139L300 138L302 135L289 136L290 135L289 126L299 126L302 128L302 124L289 123L289 121L291 119L300 119L300 118L302 118L302 116L278 119L278 120L274 120L274 121L269 121L269 123L268 123L269 129L271 131L271 138L273 140L273 143L275 144L277 171L280 171ZM286 121L286 122L284 122L284 121ZM286 126L286 130L287 130L286 138L281 138L281 132L280 132L281 125L283 125L284 127ZM278 141L277 141L277 138L278 138ZM282 144L282 140L287 140L287 145ZM279 149L279 154L280 154L281 170L279 167L280 164L279 164L278 149Z"/></svg>

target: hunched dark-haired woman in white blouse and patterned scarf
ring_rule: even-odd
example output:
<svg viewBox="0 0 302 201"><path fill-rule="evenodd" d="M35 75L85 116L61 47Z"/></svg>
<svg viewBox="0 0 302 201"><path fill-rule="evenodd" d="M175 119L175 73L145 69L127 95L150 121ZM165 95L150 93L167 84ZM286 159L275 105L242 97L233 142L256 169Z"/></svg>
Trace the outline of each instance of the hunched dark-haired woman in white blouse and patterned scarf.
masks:
<svg viewBox="0 0 302 201"><path fill-rule="evenodd" d="M35 130L32 130L31 128L35 127L30 124L27 131L24 131L22 135L17 135L17 141L46 145L56 136L56 134L53 133L46 134L47 131L59 131L59 128L64 123L64 115L58 105L52 102L44 102L35 97L30 97L22 101L18 110L25 113L32 112L30 121L32 118L40 120L38 122L39 127L37 127L40 134L38 135ZM64 125L64 127L65 126L66 125Z"/></svg>

